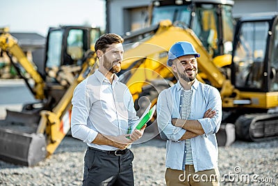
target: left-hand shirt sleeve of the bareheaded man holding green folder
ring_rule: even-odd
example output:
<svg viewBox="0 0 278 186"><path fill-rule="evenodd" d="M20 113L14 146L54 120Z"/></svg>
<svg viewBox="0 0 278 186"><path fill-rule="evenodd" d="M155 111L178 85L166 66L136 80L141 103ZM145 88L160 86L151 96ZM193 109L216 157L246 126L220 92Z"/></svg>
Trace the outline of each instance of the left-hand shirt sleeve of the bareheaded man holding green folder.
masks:
<svg viewBox="0 0 278 186"><path fill-rule="evenodd" d="M72 98L71 131L72 137L81 139L85 143L92 143L98 132L88 127L88 116L90 112L90 101L86 95L86 81L84 80L74 90Z"/></svg>

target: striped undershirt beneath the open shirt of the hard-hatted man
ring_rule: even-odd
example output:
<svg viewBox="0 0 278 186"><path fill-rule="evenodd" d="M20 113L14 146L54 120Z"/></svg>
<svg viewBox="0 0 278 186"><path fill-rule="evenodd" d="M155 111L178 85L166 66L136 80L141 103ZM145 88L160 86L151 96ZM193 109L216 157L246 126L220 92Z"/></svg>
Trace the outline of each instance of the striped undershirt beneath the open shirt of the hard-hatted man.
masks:
<svg viewBox="0 0 278 186"><path fill-rule="evenodd" d="M191 100L192 100L192 90L181 91L181 118L190 119L191 114ZM190 139L184 141L185 145L185 156L183 156L183 164L193 164L192 148Z"/></svg>

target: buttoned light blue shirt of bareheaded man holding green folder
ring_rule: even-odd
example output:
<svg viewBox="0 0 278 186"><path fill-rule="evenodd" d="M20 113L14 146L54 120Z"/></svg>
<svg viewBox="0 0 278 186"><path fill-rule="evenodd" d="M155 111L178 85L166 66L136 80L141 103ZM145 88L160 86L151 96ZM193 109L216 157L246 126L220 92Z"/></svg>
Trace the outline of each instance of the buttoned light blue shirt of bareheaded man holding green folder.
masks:
<svg viewBox="0 0 278 186"><path fill-rule="evenodd" d="M72 98L72 137L101 150L116 150L114 146L92 144L98 133L117 136L134 128L138 116L129 88L115 75L111 84L96 70L74 90Z"/></svg>

